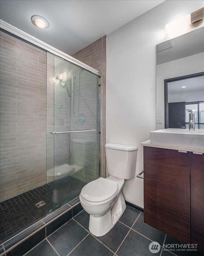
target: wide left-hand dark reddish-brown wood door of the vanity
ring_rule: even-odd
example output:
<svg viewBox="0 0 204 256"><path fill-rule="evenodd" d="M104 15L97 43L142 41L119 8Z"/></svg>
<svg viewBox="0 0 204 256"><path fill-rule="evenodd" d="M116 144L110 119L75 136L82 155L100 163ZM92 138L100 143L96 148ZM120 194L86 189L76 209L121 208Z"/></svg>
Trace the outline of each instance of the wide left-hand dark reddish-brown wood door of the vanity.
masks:
<svg viewBox="0 0 204 256"><path fill-rule="evenodd" d="M190 152L144 147L144 222L190 243Z"/></svg>

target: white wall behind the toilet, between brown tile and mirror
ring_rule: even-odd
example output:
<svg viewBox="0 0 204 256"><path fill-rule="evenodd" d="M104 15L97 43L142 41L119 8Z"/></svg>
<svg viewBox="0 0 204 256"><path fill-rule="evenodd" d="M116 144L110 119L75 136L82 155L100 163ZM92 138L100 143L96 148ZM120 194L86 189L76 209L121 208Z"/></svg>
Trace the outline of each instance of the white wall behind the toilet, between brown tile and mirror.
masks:
<svg viewBox="0 0 204 256"><path fill-rule="evenodd" d="M136 174L143 168L140 144L156 129L156 44L166 40L166 24L202 7L166 0L107 36L107 142L138 147ZM122 192L143 207L142 179L126 180Z"/></svg>

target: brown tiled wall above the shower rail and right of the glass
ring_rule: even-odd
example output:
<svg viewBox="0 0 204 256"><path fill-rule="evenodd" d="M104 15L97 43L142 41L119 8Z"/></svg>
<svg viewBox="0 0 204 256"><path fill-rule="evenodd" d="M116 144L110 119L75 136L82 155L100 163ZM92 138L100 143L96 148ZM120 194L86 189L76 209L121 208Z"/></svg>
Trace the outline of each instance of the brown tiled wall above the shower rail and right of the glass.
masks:
<svg viewBox="0 0 204 256"><path fill-rule="evenodd" d="M106 178L106 36L72 55L101 72L101 173Z"/></svg>

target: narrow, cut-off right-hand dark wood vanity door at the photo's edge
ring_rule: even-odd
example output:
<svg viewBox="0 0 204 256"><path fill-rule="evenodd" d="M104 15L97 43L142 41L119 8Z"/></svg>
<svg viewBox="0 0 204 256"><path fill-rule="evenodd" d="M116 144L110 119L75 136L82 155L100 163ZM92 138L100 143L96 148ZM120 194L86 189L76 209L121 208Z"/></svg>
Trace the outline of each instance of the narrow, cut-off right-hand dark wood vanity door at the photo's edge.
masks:
<svg viewBox="0 0 204 256"><path fill-rule="evenodd" d="M191 152L191 243L204 252L204 154Z"/></svg>

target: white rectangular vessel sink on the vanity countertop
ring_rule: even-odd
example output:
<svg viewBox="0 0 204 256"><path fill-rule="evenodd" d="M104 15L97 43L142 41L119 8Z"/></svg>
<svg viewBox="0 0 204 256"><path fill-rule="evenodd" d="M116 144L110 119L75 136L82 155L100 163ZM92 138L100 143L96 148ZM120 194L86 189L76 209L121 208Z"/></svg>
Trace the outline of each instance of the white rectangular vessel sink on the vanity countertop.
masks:
<svg viewBox="0 0 204 256"><path fill-rule="evenodd" d="M150 132L151 144L204 149L204 131L163 129Z"/></svg>

